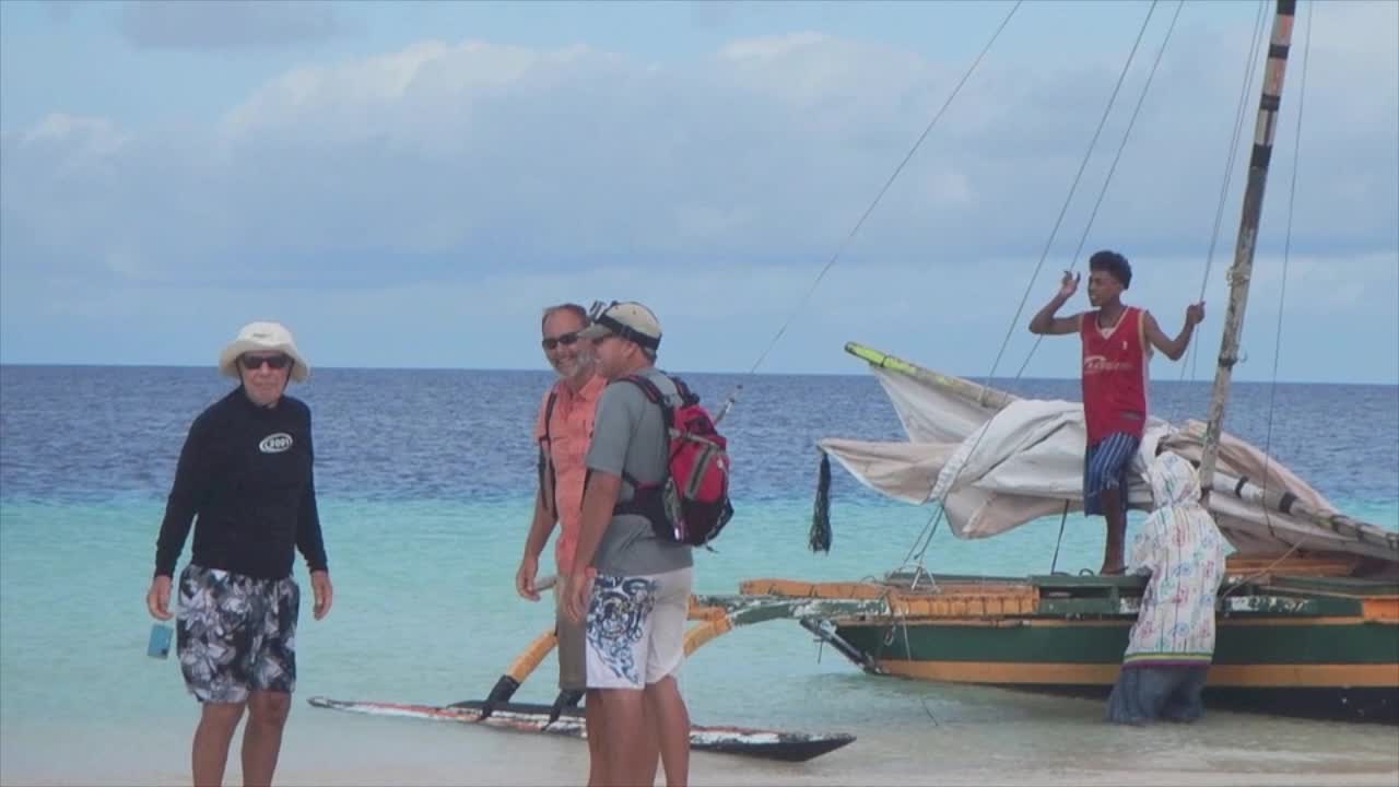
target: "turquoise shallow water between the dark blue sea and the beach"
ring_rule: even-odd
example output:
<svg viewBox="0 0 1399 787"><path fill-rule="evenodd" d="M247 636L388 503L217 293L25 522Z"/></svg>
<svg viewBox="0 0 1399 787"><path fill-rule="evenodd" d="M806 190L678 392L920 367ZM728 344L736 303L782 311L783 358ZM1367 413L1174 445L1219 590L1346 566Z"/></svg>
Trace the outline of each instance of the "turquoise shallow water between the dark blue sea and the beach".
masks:
<svg viewBox="0 0 1399 787"><path fill-rule="evenodd" d="M302 622L298 695L424 703L483 697L515 653L550 625L546 604L525 602L512 590L527 511L523 499L480 504L327 500L325 517L337 524L336 606L325 620L308 616ZM150 619L143 594L151 522L159 513L157 503L4 506L3 781L32 783L64 774L67 779L59 780L69 783L130 781L122 774L140 774L139 781L180 780L194 703L183 693L173 660L144 655ZM1395 518L1399 511L1391 507L1388 514ZM902 560L926 511L837 503L837 541L828 556L806 550L809 517L804 501L746 507L736 529L725 535L732 542L720 545L719 555L700 556L700 590L732 591L740 578L757 576L863 577ZM942 532L930 549L929 567L1044 571L1056 529L1056 522L1037 522L995 542L958 542ZM895 534L902 538L893 538ZM386 555L386 535L411 538ZM1070 521L1060 567L1094 564L1100 539L1095 522ZM305 577L299 566L297 576ZM550 658L520 689L519 699L550 702L553 678ZM1193 746L1205 762L1213 758L1217 767L1249 773L1273 769L1277 758L1286 756L1304 756L1305 767L1325 770L1340 763L1361 773L1399 769L1392 730L1216 713L1195 728L1123 737L1126 732L1100 724L1097 703L863 675L834 651L820 648L793 622L740 629L712 641L686 665L681 686L698 723L841 730L860 738L846 751L817 760L830 760L827 767L807 763L793 773L762 770L769 766L754 763L757 772L734 772L730 783L757 779L783 784L800 776L831 783L887 779L919 784L932 783L919 780L919 774L965 776L986 767L1000 774L1059 769L1074 783L1084 779L1080 769L1086 763L1121 765L1123 746L1135 758L1165 763L1174 762L1172 751ZM988 755L986 737L1003 745ZM339 748L348 741L355 748L351 760ZM74 748L74 742L80 745ZM548 779L560 777L560 772L581 773L579 752L554 742L537 744L546 746L543 751L527 744L522 751L543 759L529 760L523 772L515 770L518 763L508 758L494 766L480 765L494 762L487 755L502 745L523 744L502 732L362 718L304 706L298 706L288 734L292 763L298 762L298 746L302 756L326 751L332 762L364 763L341 783L378 783L368 776L372 770L364 770L374 767L386 769L386 781L404 779L407 763L427 769L422 783L505 783L509 776L518 779L513 783L553 783ZM453 767L450 763L427 765L459 746L477 752L471 762L484 770L469 776L443 773ZM382 755L372 755L375 749ZM152 772L152 765L159 769ZM301 773L305 777L325 770L316 765Z"/></svg>

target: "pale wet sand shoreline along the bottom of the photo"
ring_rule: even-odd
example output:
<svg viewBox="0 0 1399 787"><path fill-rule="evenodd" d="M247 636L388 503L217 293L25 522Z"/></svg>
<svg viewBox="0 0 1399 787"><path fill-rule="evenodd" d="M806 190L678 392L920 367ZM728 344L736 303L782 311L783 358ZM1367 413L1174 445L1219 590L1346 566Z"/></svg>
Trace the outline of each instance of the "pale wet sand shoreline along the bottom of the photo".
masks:
<svg viewBox="0 0 1399 787"><path fill-rule="evenodd" d="M1066 718L1044 724L929 724L862 735L807 763L697 753L694 784L1399 784L1395 731L1374 725L1287 723L1286 749L1238 745L1251 717L1206 720L1220 738L1179 728L1115 730ZM1265 727L1266 730L1266 727ZM187 784L192 727L42 724L6 730L0 784ZM1272 737L1272 732L1269 732ZM1058 745L1053 744L1058 739ZM1070 739L1080 745L1067 745ZM1298 746L1297 739L1315 745ZM1389 744L1386 744L1386 741ZM979 742L979 745L978 745ZM1329 745L1328 745L1329 742ZM1107 745L1107 746L1105 746ZM1108 752L1108 746L1116 752ZM227 784L239 784L236 741ZM277 772L287 786L581 784L581 741L299 707ZM663 783L663 779L658 779Z"/></svg>

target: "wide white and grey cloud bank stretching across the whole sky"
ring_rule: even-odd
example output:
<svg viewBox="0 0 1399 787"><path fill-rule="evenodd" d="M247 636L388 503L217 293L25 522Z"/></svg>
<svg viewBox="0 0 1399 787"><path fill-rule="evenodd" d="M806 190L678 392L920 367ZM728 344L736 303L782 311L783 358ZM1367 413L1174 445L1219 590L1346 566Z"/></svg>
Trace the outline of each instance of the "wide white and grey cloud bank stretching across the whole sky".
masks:
<svg viewBox="0 0 1399 787"><path fill-rule="evenodd" d="M1290 314L1336 316L1370 298L1372 330L1399 314L1399 62L1392 36L1377 32L1395 7L1318 8L1288 283ZM1363 29L1351 39L1350 28ZM1174 41L1086 249L1139 260L1135 291L1160 298L1171 322L1203 272L1244 53L1203 18L1182 22ZM858 337L844 330L940 342L954 330L975 336L954 371L982 371L975 364L1004 335L1123 52L1081 55L1007 50L986 62L799 316L802 342ZM765 342L964 66L821 32L665 62L421 41L291 70L206 129L55 113L0 139L6 311L194 319L213 315L178 304L271 288L313 301L326 329L346 329L341 309L442 332L463 304L529 323L548 300L641 291L681 326L743 323L726 335ZM1129 80L1123 106L1142 77ZM1300 70L1288 77L1298 94L1284 98L1260 288L1263 260L1281 245L1301 105ZM1256 95L1249 129L1255 108ZM1031 308L1079 242L1122 112ZM1242 161L1210 283L1219 319ZM979 273L986 265L997 273ZM1346 274L1328 280L1337 265ZM730 368L746 349L694 346L701 363Z"/></svg>

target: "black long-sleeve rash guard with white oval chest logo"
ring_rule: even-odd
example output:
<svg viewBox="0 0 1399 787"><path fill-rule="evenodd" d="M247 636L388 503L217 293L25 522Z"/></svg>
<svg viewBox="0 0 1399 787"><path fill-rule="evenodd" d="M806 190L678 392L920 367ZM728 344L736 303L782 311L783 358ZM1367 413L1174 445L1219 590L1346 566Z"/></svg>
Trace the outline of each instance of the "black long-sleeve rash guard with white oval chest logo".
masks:
<svg viewBox="0 0 1399 787"><path fill-rule="evenodd" d="M192 562L248 577L291 574L295 550L326 570L316 511L311 409L281 396L255 405L242 388L194 419L155 542L155 576L172 577L194 517Z"/></svg>

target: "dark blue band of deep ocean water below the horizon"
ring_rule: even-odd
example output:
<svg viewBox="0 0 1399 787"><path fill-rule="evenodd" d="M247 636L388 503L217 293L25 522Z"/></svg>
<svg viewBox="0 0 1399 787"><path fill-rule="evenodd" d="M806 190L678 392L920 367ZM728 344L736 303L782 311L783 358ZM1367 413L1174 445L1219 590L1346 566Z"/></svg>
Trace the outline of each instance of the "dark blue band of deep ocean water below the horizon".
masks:
<svg viewBox="0 0 1399 787"><path fill-rule="evenodd" d="M686 377L711 408L743 385L723 424L740 504L807 497L820 437L902 437L870 375ZM546 371L332 368L291 392L312 406L323 496L484 501L532 492L529 430L550 381ZM999 385L1079 398L1074 381ZM4 367L0 497L164 497L190 420L228 389L206 368ZM1151 391L1156 415L1168 420L1203 420L1207 401L1206 382ZM1235 384L1227 430L1269 445L1337 503L1399 500L1399 386ZM835 476L838 494L862 494L849 476Z"/></svg>

